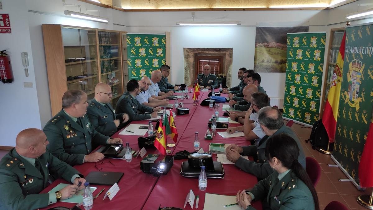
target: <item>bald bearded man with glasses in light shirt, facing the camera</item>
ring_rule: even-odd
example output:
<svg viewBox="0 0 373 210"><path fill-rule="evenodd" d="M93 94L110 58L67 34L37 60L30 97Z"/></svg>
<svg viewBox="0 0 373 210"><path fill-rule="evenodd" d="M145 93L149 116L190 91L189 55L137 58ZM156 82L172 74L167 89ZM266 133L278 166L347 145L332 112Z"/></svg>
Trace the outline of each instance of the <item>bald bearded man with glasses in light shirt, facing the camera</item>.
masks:
<svg viewBox="0 0 373 210"><path fill-rule="evenodd" d="M158 107L169 104L168 99L159 100L149 95L147 92L149 86L151 85L149 77L142 77L139 84L141 92L136 96L136 99L140 104L150 107Z"/></svg>

